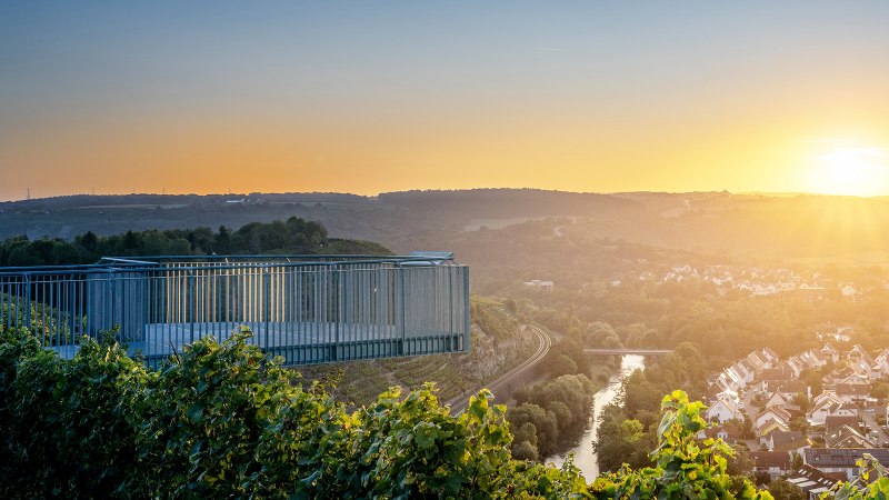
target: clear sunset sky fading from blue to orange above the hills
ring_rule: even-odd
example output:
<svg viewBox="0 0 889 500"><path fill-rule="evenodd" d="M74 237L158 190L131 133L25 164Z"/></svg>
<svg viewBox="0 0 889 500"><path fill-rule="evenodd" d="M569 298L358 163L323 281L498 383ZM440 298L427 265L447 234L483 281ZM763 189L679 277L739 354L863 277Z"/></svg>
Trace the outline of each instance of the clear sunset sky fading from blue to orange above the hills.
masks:
<svg viewBox="0 0 889 500"><path fill-rule="evenodd" d="M889 194L889 2L4 1L0 200Z"/></svg>

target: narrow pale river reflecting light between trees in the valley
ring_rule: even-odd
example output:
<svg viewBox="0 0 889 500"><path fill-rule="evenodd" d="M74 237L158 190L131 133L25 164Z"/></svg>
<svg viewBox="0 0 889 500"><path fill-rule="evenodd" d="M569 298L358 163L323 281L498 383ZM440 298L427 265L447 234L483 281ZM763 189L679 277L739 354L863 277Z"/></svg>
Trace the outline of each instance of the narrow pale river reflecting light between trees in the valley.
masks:
<svg viewBox="0 0 889 500"><path fill-rule="evenodd" d="M592 482L592 480L599 476L599 460L596 457L596 451L592 449L592 442L596 440L596 431L599 429L599 417L602 414L602 409L617 398L618 391L620 390L620 382L633 371L643 369L645 366L645 357L627 354L621 358L620 372L612 376L608 380L608 384L596 393L596 399L592 402L590 421L587 424L587 431L580 437L578 444L562 454L548 458L546 462L552 463L556 467L561 467L568 453L573 452L575 466L580 469L580 472L583 473L588 482Z"/></svg>

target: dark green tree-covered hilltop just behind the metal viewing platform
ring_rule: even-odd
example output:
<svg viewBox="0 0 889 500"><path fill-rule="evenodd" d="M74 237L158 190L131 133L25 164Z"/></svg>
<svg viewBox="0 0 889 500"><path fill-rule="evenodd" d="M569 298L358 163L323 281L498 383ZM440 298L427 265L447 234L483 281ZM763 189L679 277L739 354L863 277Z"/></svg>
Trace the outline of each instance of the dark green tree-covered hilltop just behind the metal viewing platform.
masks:
<svg viewBox="0 0 889 500"><path fill-rule="evenodd" d="M237 231L221 226L216 232L197 228L127 231L101 237L88 231L72 241L14 237L0 243L0 266L93 263L102 257L260 253L391 252L377 243L328 238L321 224L291 217L287 221L250 222Z"/></svg>

